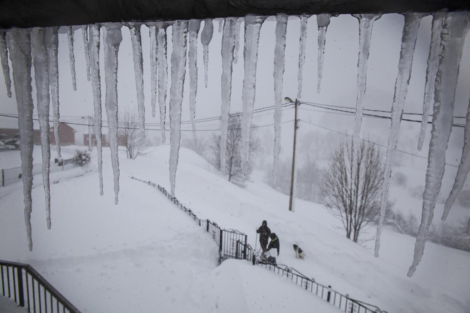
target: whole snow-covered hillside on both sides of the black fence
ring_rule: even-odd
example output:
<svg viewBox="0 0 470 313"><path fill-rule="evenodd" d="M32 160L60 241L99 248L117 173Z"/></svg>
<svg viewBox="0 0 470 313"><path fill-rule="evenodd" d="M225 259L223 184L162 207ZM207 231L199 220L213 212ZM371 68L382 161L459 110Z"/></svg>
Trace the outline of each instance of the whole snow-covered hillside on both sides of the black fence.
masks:
<svg viewBox="0 0 470 313"><path fill-rule="evenodd" d="M246 261L216 267L218 251L210 236L158 190L130 179L151 180L169 190L169 150L160 146L136 160L120 154L118 205L109 150L103 158L104 196L99 196L95 171L52 173L51 181L58 183L51 185L49 231L41 176L35 176L33 252L28 251L21 183L0 189L0 258L30 263L84 312L136 307L141 312L311 312L313 307L336 312ZM380 258L374 258L371 248L336 229L338 221L323 205L297 200L296 211L290 212L288 196L260 176L254 173L246 188L237 187L203 158L181 149L175 196L199 218L248 234L253 247L255 230L266 219L281 243L278 263L387 312L470 311L470 253L428 242L420 266L408 278L415 238L385 227ZM373 227L368 231L372 234ZM295 258L294 243L305 250L305 260Z"/></svg>

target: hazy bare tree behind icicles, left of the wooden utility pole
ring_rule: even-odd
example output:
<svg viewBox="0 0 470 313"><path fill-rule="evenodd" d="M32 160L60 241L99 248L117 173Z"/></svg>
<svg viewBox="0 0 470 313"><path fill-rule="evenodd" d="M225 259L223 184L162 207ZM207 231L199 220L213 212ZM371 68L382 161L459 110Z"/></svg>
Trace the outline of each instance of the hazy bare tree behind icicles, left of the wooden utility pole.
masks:
<svg viewBox="0 0 470 313"><path fill-rule="evenodd" d="M242 147L242 116L231 115L228 117L227 150L225 153L226 172L228 181L240 183L243 178L242 159L240 150ZM213 154L213 165L220 170L220 135L212 133L211 150ZM257 137L251 133L250 157L248 160L247 175L253 170L257 154L261 151L261 144Z"/></svg>

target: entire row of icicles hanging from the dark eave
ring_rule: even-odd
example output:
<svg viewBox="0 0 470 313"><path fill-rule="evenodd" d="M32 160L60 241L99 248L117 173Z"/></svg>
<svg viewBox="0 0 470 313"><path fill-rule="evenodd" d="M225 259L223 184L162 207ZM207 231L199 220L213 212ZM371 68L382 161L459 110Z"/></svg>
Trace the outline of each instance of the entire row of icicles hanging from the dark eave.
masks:
<svg viewBox="0 0 470 313"><path fill-rule="evenodd" d="M392 103L391 131L386 154L386 165L381 195L380 222L377 228L375 256L378 257L380 247L380 235L384 221L384 212L387 203L388 188L392 174L393 158L398 141L399 126L407 95L407 87L411 76L413 53L415 50L418 27L423 16L427 14L407 13L401 41L399 71L395 83L395 95ZM219 19L219 32L222 37L222 77L221 77L221 139L220 139L220 165L225 169L225 151L227 141L228 114L230 110L230 95L232 81L232 65L238 61L240 24L244 21L244 79L243 79L243 119L242 119L242 168L246 173L249 157L250 129L253 116L256 85L256 65L258 59L259 32L267 16L246 16L244 18L227 17ZM298 67L298 98L301 97L303 66L305 62L305 40L307 21L310 15L300 16L300 44ZM359 20L359 61L357 79L356 121L354 127L354 156L351 177L356 176L357 171L357 146L359 141L362 110L366 91L367 62L370 49L372 26L374 21L381 17L380 14L354 15ZM279 153L281 147L281 114L282 114L282 75L284 72L284 52L286 45L286 31L288 16L276 16L275 49L274 49L274 167L273 180L276 180ZM321 14L317 16L318 24L318 83L317 92L320 92L321 72L323 67L323 52L327 27L331 15ZM162 140L165 141L164 124L166 114L166 88L167 88L167 41L166 31L172 26L173 52L171 55L172 82L170 87L170 182L171 194L174 196L176 168L180 149L180 123L181 103L183 100L183 85L186 74L186 54L189 59L189 103L193 136L196 136L196 92L197 92L197 37L202 20L152 22L144 23L150 32L150 72L151 72L151 105L152 117L155 117L156 104L160 111L160 123L162 128ZM225 23L223 23L225 21ZM109 121L110 149L112 168L114 173L115 203L118 203L119 192L119 167L118 167L118 51L122 41L121 27L129 28L132 38L133 61L137 90L137 106L139 125L142 138L144 134L144 91L143 91L143 65L141 46L142 23L103 23L81 26L85 46L87 79L92 81L94 97L94 128L98 150L98 175L100 181L100 194L103 194L102 184L102 103L100 85L100 27L103 28L104 62L106 96L105 108ZM223 25L223 27L222 27ZM454 96L457 85L459 63L462 57L464 39L469 30L470 14L459 13L435 13L432 22L432 37L426 71L426 84L423 103L423 123L418 143L418 150L423 147L424 134L426 132L427 117L433 104L433 118L431 142L429 148L428 171L426 173L425 191L423 194L423 214L415 244L415 256L408 276L412 276L415 268L421 260L424 251L429 227L433 217L436 198L441 187L444 174L445 153L447 141L453 124ZM72 73L73 89L76 90L75 66L73 54L73 31L71 26L67 28L70 66ZM204 47L204 77L207 87L207 66L209 60L209 43L213 34L211 19L204 20L204 28L201 31L201 43ZM187 40L189 43L187 44ZM32 250L31 239L31 188L32 188L32 149L33 149L33 102L31 87L31 56L34 57L35 83L37 89L37 110L39 116L39 129L41 137L41 149L43 159L43 181L46 193L47 228L50 229L50 194L49 194L49 103L52 98L54 134L57 147L57 155L60 157L59 141L59 78L58 78L58 27L17 29L0 32L0 54L8 96L11 97L11 81L9 78L8 52L13 67L13 80L18 106L19 131L21 142L21 159L24 186L24 216L28 234L29 249ZM32 54L31 54L32 52ZM49 94L49 86L51 94ZM158 93L157 93L158 88ZM445 220L458 193L470 171L470 105L464 128L465 138L462 151L462 160L458 168L457 176L452 191L446 201L442 220ZM470 235L470 220L469 233Z"/></svg>

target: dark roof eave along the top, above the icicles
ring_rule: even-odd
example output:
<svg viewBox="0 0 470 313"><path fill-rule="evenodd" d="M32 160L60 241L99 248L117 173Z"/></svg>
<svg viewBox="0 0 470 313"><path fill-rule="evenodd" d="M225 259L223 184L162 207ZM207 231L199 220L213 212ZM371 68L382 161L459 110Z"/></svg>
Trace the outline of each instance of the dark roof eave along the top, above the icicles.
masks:
<svg viewBox="0 0 470 313"><path fill-rule="evenodd" d="M470 10L470 1L448 0L3 0L0 28L105 22L174 21L249 14L354 14Z"/></svg>

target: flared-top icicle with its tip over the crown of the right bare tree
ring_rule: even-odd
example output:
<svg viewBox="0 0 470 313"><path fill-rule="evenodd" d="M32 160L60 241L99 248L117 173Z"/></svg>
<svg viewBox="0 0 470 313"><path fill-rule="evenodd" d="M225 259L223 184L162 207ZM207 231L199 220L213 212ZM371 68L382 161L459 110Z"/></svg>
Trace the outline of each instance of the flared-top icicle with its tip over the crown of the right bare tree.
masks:
<svg viewBox="0 0 470 313"><path fill-rule="evenodd" d="M370 39L372 37L372 26L381 14L354 14L359 20L359 60L357 62L357 98L356 98L356 124L354 127L354 139L352 142L352 180L355 180L357 172L357 148L360 135L360 124L362 123L362 109L366 96L367 60L369 58Z"/></svg>

